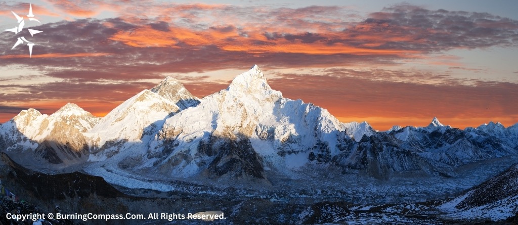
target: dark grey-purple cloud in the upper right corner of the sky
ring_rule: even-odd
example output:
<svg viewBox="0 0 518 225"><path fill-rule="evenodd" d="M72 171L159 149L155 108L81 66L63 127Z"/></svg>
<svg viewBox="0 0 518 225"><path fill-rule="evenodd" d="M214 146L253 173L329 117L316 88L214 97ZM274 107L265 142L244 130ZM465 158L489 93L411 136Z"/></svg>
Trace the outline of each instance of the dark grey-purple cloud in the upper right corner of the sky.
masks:
<svg viewBox="0 0 518 225"><path fill-rule="evenodd" d="M515 40L518 37L518 21L489 13L427 10L412 5L397 5L384 8L383 12L372 13L371 18L358 25L371 25L373 31L410 35L422 41L421 44L412 44L410 48L428 51L518 44ZM379 48L405 48L404 43L386 43Z"/></svg>

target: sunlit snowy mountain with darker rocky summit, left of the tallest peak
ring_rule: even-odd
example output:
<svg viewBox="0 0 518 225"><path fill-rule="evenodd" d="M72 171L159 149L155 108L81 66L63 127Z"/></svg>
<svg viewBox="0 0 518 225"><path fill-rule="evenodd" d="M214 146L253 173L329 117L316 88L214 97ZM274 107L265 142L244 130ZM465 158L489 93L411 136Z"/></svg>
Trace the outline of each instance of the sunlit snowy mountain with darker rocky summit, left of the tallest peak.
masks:
<svg viewBox="0 0 518 225"><path fill-rule="evenodd" d="M167 118L198 103L182 84L167 77L151 91L144 90L124 101L88 131L96 146L90 161L102 161L124 149L145 151L149 148L145 137L151 138L149 134L156 133Z"/></svg>

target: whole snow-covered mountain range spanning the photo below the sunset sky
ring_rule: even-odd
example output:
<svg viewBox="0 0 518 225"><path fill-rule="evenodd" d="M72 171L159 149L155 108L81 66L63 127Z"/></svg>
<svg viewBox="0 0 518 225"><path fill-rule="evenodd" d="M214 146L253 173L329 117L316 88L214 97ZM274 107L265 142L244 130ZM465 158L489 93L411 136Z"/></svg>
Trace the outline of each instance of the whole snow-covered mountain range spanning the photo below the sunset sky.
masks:
<svg viewBox="0 0 518 225"><path fill-rule="evenodd" d="M434 118L427 127L378 132L282 97L255 65L202 99L168 77L102 118L71 103L52 115L23 110L0 126L0 150L38 170L95 165L147 177L271 181L314 167L379 179L408 172L450 177L457 167L515 155L518 124L460 130Z"/></svg>

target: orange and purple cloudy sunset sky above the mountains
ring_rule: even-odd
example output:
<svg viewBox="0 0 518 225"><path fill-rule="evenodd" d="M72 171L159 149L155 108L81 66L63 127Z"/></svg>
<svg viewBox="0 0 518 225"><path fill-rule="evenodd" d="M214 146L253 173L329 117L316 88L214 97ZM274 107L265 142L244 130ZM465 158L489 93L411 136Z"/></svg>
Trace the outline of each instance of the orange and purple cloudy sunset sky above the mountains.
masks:
<svg viewBox="0 0 518 225"><path fill-rule="evenodd" d="M257 64L284 97L341 122L511 126L516 9L462 0L0 2L0 123L67 102L104 116L167 76L202 98ZM19 33L4 31L19 24L11 11L24 19ZM27 42L13 48L21 37L34 43L32 57Z"/></svg>

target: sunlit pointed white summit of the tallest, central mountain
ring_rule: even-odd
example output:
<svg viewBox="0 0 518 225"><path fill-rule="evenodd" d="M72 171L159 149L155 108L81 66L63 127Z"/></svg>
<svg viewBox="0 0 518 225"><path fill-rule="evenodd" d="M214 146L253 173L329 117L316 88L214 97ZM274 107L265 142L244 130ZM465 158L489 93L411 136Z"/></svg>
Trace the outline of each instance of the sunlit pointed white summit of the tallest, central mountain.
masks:
<svg viewBox="0 0 518 225"><path fill-rule="evenodd" d="M269 97L270 95L282 94L271 89L261 69L255 65L247 72L239 74L228 86L227 91L253 95L256 98Z"/></svg>

